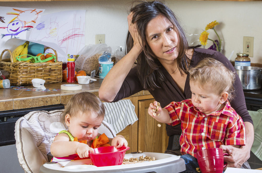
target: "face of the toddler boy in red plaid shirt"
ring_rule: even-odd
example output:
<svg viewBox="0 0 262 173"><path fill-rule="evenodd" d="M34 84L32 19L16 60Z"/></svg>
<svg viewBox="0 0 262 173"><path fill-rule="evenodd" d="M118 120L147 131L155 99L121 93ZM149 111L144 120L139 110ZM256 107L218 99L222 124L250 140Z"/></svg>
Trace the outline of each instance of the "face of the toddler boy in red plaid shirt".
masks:
<svg viewBox="0 0 262 173"><path fill-rule="evenodd" d="M223 107L219 103L221 96L217 94L216 88L209 84L201 86L198 82L191 81L189 85L192 92L192 103L200 112L209 115Z"/></svg>

